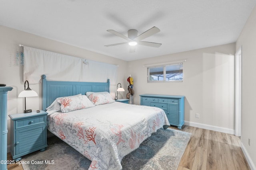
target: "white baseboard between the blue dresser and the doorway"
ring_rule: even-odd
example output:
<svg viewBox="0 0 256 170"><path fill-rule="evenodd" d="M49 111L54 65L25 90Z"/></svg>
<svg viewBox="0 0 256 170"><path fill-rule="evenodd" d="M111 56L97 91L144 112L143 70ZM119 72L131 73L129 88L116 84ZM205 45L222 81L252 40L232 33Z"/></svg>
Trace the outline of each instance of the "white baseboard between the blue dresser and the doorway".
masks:
<svg viewBox="0 0 256 170"><path fill-rule="evenodd" d="M208 130L212 130L212 131L228 133L228 134L232 134L232 135L235 134L235 130L234 129L228 129L228 128L225 128L225 127L206 125L206 124L196 123L196 122L191 122L191 121L185 121L184 125L193 126L193 127L199 127L199 128L202 128L202 129L208 129Z"/></svg>

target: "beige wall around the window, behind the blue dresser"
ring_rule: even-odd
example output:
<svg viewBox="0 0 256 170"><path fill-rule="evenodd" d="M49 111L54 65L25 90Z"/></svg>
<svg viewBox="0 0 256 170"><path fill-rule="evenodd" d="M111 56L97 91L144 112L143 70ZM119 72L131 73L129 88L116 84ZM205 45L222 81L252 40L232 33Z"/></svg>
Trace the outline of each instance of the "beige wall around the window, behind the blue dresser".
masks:
<svg viewBox="0 0 256 170"><path fill-rule="evenodd" d="M134 78L135 104L140 104L139 94L145 93L186 96L186 123L234 133L234 53L235 43L231 43L130 61L128 67ZM147 82L147 67L143 65L185 59L182 83ZM199 119L196 113L200 114Z"/></svg>

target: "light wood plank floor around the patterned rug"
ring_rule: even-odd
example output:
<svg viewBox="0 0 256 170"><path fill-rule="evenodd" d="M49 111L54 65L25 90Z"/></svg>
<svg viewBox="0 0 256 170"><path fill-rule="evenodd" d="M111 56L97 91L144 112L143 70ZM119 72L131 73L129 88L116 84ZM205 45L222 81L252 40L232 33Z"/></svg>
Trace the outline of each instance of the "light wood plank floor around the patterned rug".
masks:
<svg viewBox="0 0 256 170"><path fill-rule="evenodd" d="M240 148L239 137L191 126L183 126L181 131L192 135L178 170L250 170ZM10 153L7 156L8 160L12 160ZM18 164L9 164L7 168L23 170Z"/></svg>

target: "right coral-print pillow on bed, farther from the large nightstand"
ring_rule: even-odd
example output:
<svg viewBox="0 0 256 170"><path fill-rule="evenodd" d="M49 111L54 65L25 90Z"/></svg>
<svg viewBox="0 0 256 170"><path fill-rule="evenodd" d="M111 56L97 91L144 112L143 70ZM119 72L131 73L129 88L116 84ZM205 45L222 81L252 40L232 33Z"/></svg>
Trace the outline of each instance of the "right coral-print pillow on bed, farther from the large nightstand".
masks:
<svg viewBox="0 0 256 170"><path fill-rule="evenodd" d="M86 96L94 105L108 104L115 102L108 92L86 92Z"/></svg>

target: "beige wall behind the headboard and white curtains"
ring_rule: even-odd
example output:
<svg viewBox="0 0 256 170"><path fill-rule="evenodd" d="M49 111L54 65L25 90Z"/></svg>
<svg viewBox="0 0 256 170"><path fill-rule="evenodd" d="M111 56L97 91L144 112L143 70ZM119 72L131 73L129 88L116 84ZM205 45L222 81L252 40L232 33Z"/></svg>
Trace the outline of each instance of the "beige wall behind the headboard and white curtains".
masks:
<svg viewBox="0 0 256 170"><path fill-rule="evenodd" d="M86 58L94 61L100 61L109 64L118 65L117 82L126 83L124 74L127 74L127 62L94 53L85 49L32 35L16 29L11 29L0 25L0 84L13 87L13 90L8 92L8 114L22 113L24 110L24 98L18 98L18 94L24 90L23 70L22 66L15 66L16 51L21 51L19 44L70 55L74 57ZM85 40L86 41L86 40ZM46 77L47 78L47 77ZM111 81L111 80L110 80ZM38 110L42 109L42 85L30 84L38 93L38 97L26 98L27 109ZM110 86L110 93L114 98L116 85ZM127 93L123 92L124 95ZM118 95L122 98L122 94ZM10 118L8 117L8 131L10 132ZM8 133L8 144L10 145L10 133Z"/></svg>

